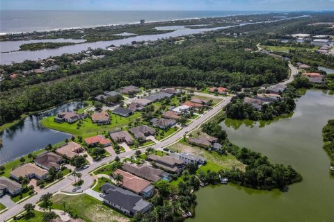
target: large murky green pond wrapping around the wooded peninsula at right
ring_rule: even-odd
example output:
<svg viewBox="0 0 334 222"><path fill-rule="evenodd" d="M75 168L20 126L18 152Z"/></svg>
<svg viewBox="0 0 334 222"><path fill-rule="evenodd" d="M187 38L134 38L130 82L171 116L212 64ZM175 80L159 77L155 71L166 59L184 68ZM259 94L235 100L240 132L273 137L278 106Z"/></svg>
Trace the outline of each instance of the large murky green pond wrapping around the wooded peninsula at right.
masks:
<svg viewBox="0 0 334 222"><path fill-rule="evenodd" d="M226 119L221 126L231 142L291 164L303 181L289 191L258 191L237 185L198 191L196 216L189 221L334 221L334 179L322 149L321 129L334 119L334 96L309 89L291 117L271 123Z"/></svg>

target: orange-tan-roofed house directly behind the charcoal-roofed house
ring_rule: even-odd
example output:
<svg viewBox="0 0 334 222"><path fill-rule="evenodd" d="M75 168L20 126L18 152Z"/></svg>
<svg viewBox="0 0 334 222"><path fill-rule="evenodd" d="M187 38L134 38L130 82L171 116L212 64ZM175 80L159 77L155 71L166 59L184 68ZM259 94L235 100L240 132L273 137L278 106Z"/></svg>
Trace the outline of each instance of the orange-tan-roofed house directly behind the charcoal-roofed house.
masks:
<svg viewBox="0 0 334 222"><path fill-rule="evenodd" d="M131 173L126 171L122 171L121 169L116 169L113 171L113 176L122 175L122 187L133 191L136 194L143 196L144 198L149 198L154 194L154 187L152 187L151 182L148 180L144 180L142 178L138 178L138 176L134 176Z"/></svg>

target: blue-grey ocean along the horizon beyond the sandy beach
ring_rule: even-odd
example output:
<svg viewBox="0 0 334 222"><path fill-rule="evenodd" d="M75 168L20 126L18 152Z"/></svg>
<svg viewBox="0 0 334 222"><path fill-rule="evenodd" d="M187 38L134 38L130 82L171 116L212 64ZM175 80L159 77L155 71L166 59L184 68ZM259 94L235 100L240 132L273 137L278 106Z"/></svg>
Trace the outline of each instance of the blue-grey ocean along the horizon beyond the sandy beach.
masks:
<svg viewBox="0 0 334 222"><path fill-rule="evenodd" d="M112 24L161 22L177 19L250 15L267 11L84 11L84 10L1 10L0 33L26 33Z"/></svg>

